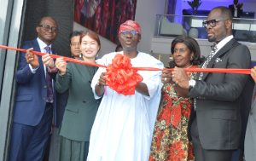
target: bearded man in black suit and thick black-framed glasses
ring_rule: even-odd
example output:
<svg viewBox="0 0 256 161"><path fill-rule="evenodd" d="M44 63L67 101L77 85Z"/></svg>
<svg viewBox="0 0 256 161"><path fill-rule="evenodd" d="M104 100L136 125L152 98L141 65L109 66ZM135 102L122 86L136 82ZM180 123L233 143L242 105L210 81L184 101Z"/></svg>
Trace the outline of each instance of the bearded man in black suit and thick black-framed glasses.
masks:
<svg viewBox="0 0 256 161"><path fill-rule="evenodd" d="M203 68L250 68L250 51L232 35L232 14L226 7L212 9L203 22L208 41L215 45ZM195 98L195 115L190 133L196 161L229 161L240 145L241 93L247 75L198 73L189 79L181 68L172 72L172 80Z"/></svg>

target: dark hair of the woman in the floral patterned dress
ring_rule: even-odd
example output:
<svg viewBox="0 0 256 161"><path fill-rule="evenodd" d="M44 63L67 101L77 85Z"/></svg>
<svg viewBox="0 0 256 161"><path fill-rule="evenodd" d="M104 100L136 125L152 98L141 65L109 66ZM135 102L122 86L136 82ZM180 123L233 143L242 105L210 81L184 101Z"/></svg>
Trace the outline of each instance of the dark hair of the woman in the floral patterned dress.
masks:
<svg viewBox="0 0 256 161"><path fill-rule="evenodd" d="M202 63L201 59L201 51L199 44L196 42L196 40L192 37L185 37L185 36L178 36L172 41L172 47L171 52L172 55L174 53L174 48L177 43L183 43L187 46L187 48L190 50L191 53L194 53L193 59L191 60L191 63L193 65L200 65Z"/></svg>

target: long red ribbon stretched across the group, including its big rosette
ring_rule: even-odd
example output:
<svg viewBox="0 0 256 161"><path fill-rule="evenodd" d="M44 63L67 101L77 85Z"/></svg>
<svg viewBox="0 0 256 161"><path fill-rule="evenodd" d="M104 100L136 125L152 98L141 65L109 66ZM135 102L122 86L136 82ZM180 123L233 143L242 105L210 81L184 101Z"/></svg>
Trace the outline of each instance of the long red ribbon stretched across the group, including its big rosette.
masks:
<svg viewBox="0 0 256 161"><path fill-rule="evenodd" d="M26 52L26 49L16 49L8 46L0 45L2 49L12 49L16 51ZM46 53L40 53L38 51L33 51L34 55L46 55ZM51 58L60 58L63 57L63 60L78 63L86 66L99 66L106 67L106 83L109 88L115 90L122 95L134 95L135 88L137 83L143 81L143 78L137 73L138 70L142 71L162 71L163 69L154 68L154 67L132 67L131 59L125 55L115 55L112 60L112 64L109 66L102 66L96 63L85 62L84 60L77 60L73 58L68 58L60 55L50 55ZM173 68L168 69L170 71ZM250 74L250 69L220 69L220 68L186 68L186 72L224 72L224 73L239 73L239 74Z"/></svg>

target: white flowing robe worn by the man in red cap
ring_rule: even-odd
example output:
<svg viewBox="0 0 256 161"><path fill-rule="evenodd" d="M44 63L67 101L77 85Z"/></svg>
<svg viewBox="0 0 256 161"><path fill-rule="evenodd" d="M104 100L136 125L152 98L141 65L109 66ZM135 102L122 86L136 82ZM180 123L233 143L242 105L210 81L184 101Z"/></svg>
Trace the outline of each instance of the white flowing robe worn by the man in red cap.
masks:
<svg viewBox="0 0 256 161"><path fill-rule="evenodd" d="M123 54L121 52L121 54ZM104 55L100 64L112 63L116 53ZM153 56L139 52L131 59L132 66L157 67L163 64ZM95 86L105 68L96 72L91 87ZM105 93L96 114L90 133L87 161L146 161L148 160L151 137L156 113L160 103L161 72L138 71L147 84L150 96L136 91L135 95L119 95L105 86ZM96 98L99 98L95 94Z"/></svg>

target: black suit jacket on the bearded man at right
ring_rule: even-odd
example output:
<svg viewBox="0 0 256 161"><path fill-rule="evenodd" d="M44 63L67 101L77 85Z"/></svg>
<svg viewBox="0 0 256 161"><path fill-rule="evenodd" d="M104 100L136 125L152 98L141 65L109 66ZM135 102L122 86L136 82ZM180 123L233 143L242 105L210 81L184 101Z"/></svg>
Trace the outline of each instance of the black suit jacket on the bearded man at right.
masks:
<svg viewBox="0 0 256 161"><path fill-rule="evenodd" d="M218 60L217 60L218 58ZM213 56L207 68L249 68L250 51L234 38ZM247 75L205 73L189 91L196 99L196 119L202 147L236 149L241 136L240 97Z"/></svg>

